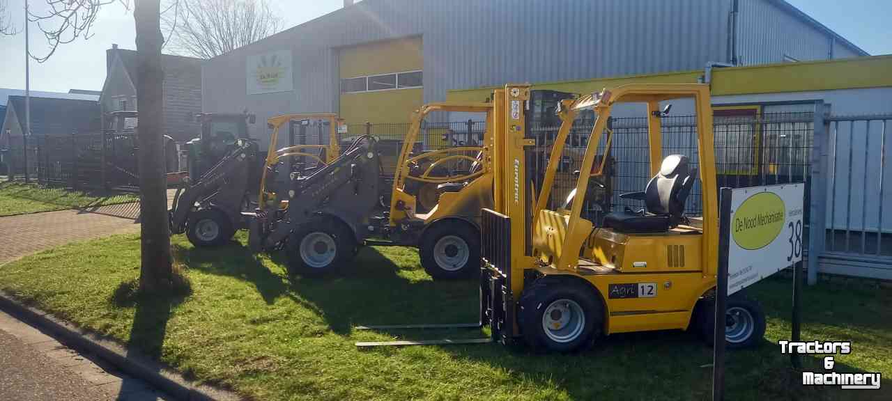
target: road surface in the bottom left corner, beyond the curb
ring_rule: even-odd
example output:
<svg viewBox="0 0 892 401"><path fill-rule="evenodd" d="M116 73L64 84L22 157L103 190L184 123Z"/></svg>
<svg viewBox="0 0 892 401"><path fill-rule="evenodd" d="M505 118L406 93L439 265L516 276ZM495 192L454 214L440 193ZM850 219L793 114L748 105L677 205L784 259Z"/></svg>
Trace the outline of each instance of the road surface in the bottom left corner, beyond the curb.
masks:
<svg viewBox="0 0 892 401"><path fill-rule="evenodd" d="M167 395L0 311L0 399L163 401Z"/></svg>

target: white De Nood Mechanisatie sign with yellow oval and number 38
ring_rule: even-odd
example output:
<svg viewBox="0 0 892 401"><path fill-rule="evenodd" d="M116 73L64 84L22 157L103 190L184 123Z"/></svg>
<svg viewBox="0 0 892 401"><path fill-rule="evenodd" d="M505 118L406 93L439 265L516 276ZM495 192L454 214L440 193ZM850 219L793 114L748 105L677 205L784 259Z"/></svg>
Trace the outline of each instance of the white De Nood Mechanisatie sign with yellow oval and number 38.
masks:
<svg viewBox="0 0 892 401"><path fill-rule="evenodd" d="M731 190L728 295L802 260L805 184Z"/></svg>

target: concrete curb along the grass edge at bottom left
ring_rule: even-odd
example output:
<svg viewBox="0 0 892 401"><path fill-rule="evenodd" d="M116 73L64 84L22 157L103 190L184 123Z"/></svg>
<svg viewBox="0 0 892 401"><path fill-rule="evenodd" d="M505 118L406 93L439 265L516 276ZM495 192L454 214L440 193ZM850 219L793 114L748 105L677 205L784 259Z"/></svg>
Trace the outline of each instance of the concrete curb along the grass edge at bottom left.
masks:
<svg viewBox="0 0 892 401"><path fill-rule="evenodd" d="M35 307L29 307L14 299L5 291L0 291L0 309L30 323L52 335L56 340L71 348L85 351L100 357L131 376L148 382L157 389L182 401L242 401L244 397L226 389L208 385L194 385L178 372L153 361L147 356L120 345L92 332L78 329L73 324L47 314Z"/></svg>

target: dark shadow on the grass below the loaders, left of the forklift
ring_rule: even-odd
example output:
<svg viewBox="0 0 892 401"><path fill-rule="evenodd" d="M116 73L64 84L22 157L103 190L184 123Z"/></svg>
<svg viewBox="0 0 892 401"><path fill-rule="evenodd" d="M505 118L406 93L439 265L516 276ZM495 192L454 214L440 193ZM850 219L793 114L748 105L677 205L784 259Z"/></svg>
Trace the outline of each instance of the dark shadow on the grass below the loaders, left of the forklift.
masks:
<svg viewBox="0 0 892 401"><path fill-rule="evenodd" d="M270 271L237 241L213 249L175 245L174 253L189 269L251 282L267 304L279 297L293 299L322 316L331 330L341 335L349 335L357 324L477 320L473 282L409 280L400 274L401 266L374 248L361 249L350 266L340 272L312 279L289 279L283 252L270 255L276 265L282 266Z"/></svg>

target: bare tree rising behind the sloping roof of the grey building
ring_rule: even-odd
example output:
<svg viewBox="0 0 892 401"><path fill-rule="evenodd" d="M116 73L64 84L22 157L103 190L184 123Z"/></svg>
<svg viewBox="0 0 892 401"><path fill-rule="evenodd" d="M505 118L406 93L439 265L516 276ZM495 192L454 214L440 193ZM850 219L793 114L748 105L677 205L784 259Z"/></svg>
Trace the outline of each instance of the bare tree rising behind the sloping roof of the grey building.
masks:
<svg viewBox="0 0 892 401"><path fill-rule="evenodd" d="M171 0L162 23L168 48L210 59L276 33L282 19L266 0Z"/></svg>

